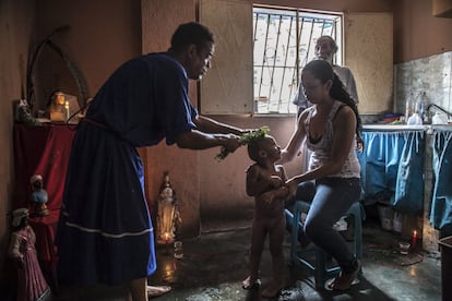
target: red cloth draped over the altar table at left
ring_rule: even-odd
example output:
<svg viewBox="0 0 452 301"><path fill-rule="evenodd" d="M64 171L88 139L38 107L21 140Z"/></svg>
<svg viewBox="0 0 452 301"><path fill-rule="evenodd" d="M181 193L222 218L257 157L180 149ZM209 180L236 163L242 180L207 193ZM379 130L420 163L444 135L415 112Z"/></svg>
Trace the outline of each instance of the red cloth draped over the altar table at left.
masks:
<svg viewBox="0 0 452 301"><path fill-rule="evenodd" d="M75 125L43 124L41 127L14 124L15 186L13 209L31 203L33 174L43 176L48 194L49 216L31 217L29 225L36 234L36 251L43 267L55 277L57 250L53 244L64 189L66 172Z"/></svg>

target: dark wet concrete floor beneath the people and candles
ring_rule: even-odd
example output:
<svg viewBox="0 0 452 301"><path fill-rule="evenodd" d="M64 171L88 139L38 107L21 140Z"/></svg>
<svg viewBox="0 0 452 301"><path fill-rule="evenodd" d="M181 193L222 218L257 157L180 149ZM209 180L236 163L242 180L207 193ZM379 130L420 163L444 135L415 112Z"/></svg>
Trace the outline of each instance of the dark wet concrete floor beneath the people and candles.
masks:
<svg viewBox="0 0 452 301"><path fill-rule="evenodd" d="M215 231L215 226L211 226L200 238L183 241L181 260L174 257L173 248L167 252L164 245L159 246L158 269L150 277L150 284L170 285L173 291L155 300L263 300L260 289L241 288L241 280L248 275L248 224L235 222L234 230L228 231ZM292 268L288 237L284 244L286 287L273 300L441 300L439 253L417 248L408 255L399 254L400 237L382 230L378 220L364 222L362 276L345 292L316 290L309 270ZM261 263L263 285L269 281L270 268L271 257L265 250ZM119 301L127 300L127 292L124 288L74 290L62 285L55 300Z"/></svg>

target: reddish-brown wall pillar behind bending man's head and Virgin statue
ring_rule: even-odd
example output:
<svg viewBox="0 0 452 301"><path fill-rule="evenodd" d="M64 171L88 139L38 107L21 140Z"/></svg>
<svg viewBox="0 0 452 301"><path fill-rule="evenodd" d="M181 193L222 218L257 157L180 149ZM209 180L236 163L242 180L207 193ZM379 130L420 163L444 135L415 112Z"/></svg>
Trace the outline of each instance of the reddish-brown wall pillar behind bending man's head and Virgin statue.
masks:
<svg viewBox="0 0 452 301"><path fill-rule="evenodd" d="M142 1L142 50L143 53L165 51L177 26L194 21L195 1ZM165 24L165 26L162 26ZM190 83L190 99L197 104L197 84ZM200 188L199 157L197 152L179 149L160 142L153 147L142 148L145 169L145 190L152 212L156 213L156 200L168 171L173 188L176 192L178 206L182 218L182 236L198 236L200 231ZM155 217L155 215L153 214ZM155 218L153 218L155 222Z"/></svg>

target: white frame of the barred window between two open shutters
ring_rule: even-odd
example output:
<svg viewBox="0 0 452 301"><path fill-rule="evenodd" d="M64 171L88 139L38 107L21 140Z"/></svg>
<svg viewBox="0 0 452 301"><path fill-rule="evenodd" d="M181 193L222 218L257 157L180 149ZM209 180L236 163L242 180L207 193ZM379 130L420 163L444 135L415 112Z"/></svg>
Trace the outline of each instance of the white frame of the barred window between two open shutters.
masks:
<svg viewBox="0 0 452 301"><path fill-rule="evenodd" d="M275 79L273 77L274 75L274 69L282 69L283 72L283 76L285 76L286 71L288 70L288 73L292 73L292 75L288 75L289 80L286 80L283 77L281 82L281 87L279 87L279 98L275 99L272 101L272 97L271 94L269 93L267 95L262 95L261 93L261 88L262 88L262 77L263 77L263 70L265 68L265 60L267 58L269 61L271 61L271 57L265 57L266 55L266 49L261 50L261 52L263 52L262 56L260 56L259 58L257 58L257 33L258 33L258 23L259 23L259 15L267 15L267 19L271 19L269 15L273 15L273 16L279 16L279 27L277 28L277 33L281 33L281 23L282 23L282 16L283 17L290 17L290 27L289 29L294 31L292 28L292 23L294 22L294 17L296 19L295 22L295 33L298 33L297 35L292 34L292 36L295 36L295 45L292 45L290 43L294 43L294 37L292 37L292 39L288 40L287 45L286 45L286 56L282 57L284 59L285 62L287 62L287 56L289 53L289 48L295 47L295 62L293 65L277 65L273 64L273 70L270 70L271 67L267 67L269 72L272 72L272 75L269 79L269 83L270 83L270 87L269 91L272 91L272 88L274 86L277 86L277 84L275 83ZM298 89L298 85L299 85L299 81L300 81L300 70L302 69L302 67L310 61L312 58L314 58L314 46L316 46L316 39L318 37L320 37L321 35L330 35L332 36L338 46L338 51L334 57L334 62L337 64L342 64L343 62L343 53L344 53L344 49L343 49L343 37L344 37L344 33L343 33L343 28L344 28L344 14L342 12L325 12L325 11L318 11L318 10L306 10L306 9L299 9L299 8L289 8L289 7L276 7L276 5L264 5L264 4L253 4L252 5L252 21L253 21L253 115L258 115L258 116L287 116L287 115L294 115L297 111L296 106L293 104L293 99L297 93ZM311 24L311 33L309 38L307 39L306 36L304 36L304 32L302 32L302 27L306 25L305 20L312 20L312 24ZM322 23L322 22L323 23ZM324 31L324 24L325 21L329 22L329 24L334 24L334 28L332 28L330 31L330 33L328 33L328 31ZM308 21L309 23L309 21ZM321 28L320 33L319 29L317 29L316 34L312 35L312 33L314 32L314 25L316 24L323 24L323 27ZM269 35L269 27L270 24L269 22L266 24L264 24L267 26L267 32L265 33L266 37ZM332 25L333 26L333 25ZM287 28L286 28L287 29ZM309 28L308 28L309 29ZM290 36L289 34L289 36ZM306 34L305 34L306 35ZM276 35L276 38L274 38L274 40L276 40L276 46L274 47L275 53L274 57L277 57L277 47L278 47L278 39L282 35L278 34ZM300 40L301 39L301 40ZM304 49L302 46L305 46L305 44L302 43L302 40L307 40L307 46L308 49ZM267 45L267 40L264 41L265 46ZM284 48L284 45L283 45ZM301 58L301 49L304 49L304 51L306 52L305 58ZM273 61L276 61L277 59L273 59ZM261 69L261 73L259 73L259 71L257 71L257 69ZM258 74L258 75L257 75ZM257 76L259 77L257 80ZM259 83L257 83L259 82ZM259 87L258 87L259 86ZM284 99L284 101L282 101L281 96L283 95L283 89L285 88L285 86L288 87L288 96ZM287 91L287 88L286 88ZM287 92L286 92L287 94ZM265 98L266 97L266 98ZM270 100L269 100L270 99ZM266 106L267 108L270 108L271 106L277 106L276 110L272 110L272 109L267 109L266 111L262 108L265 107L265 104L262 105L262 103L266 103L270 101L270 104L267 103ZM282 110L281 106L285 106L286 110Z"/></svg>

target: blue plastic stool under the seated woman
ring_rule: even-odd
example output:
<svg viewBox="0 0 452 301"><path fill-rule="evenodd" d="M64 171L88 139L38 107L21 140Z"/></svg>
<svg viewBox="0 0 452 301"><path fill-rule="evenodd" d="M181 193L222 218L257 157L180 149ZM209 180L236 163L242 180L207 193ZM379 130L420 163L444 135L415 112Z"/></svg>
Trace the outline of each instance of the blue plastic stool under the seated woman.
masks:
<svg viewBox="0 0 452 301"><path fill-rule="evenodd" d="M298 231L302 231L300 217L301 213L307 213L310 204L297 201L294 206L294 214L286 209L286 218L292 225L292 245L290 245L290 261L294 266L306 266L314 274L316 288L324 288L328 279L335 277L341 267L338 265L326 266L328 254L320 248L300 249L298 244ZM360 202L352 204L345 216L353 216L354 218L354 253L358 260L362 258L362 219L366 219L366 213ZM290 220L292 219L292 220ZM312 260L312 256L314 260ZM313 263L312 263L313 262ZM358 275L361 275L359 270Z"/></svg>

